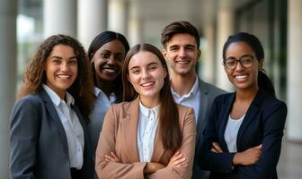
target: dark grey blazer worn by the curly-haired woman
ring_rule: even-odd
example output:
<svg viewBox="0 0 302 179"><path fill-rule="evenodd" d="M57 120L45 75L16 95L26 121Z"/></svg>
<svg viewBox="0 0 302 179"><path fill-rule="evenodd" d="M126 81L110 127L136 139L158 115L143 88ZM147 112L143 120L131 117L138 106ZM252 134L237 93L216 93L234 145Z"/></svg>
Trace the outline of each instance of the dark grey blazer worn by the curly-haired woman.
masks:
<svg viewBox="0 0 302 179"><path fill-rule="evenodd" d="M93 160L86 124L81 178L93 178ZM10 177L71 179L67 137L56 108L45 90L17 101L10 116ZM88 144L88 145L87 145Z"/></svg>

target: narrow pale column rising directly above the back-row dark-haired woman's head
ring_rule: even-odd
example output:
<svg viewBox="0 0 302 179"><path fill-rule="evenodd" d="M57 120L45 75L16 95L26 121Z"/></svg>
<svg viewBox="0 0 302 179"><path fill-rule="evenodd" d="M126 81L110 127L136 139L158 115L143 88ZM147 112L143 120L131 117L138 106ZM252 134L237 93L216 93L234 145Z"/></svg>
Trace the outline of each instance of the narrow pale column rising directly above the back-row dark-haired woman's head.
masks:
<svg viewBox="0 0 302 179"><path fill-rule="evenodd" d="M108 29L127 36L128 4L126 0L109 0Z"/></svg>

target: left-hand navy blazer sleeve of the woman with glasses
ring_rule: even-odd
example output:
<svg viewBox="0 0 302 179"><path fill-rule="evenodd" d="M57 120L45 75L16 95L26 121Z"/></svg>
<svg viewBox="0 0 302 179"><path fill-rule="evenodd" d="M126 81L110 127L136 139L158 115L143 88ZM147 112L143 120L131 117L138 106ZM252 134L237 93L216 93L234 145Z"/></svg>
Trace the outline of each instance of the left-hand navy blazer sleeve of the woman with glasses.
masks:
<svg viewBox="0 0 302 179"><path fill-rule="evenodd" d="M206 128L200 137L199 149L196 149L196 152L198 152L196 158L198 159L200 168L203 170L230 173L234 169L233 158L235 153L224 152L217 154L210 151L212 142L218 142L216 122L218 121L219 111L221 110L219 109L218 104L219 101L218 98L216 98L210 109Z"/></svg>

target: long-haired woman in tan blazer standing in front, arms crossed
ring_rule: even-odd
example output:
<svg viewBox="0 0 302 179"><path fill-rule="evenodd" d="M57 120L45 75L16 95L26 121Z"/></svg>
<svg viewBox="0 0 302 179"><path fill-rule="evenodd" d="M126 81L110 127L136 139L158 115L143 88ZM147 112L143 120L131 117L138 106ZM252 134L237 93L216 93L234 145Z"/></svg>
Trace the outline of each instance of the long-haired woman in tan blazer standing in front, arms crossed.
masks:
<svg viewBox="0 0 302 179"><path fill-rule="evenodd" d="M99 178L191 178L194 113L174 102L169 79L156 47L130 49L122 69L127 102L105 115L95 158Z"/></svg>

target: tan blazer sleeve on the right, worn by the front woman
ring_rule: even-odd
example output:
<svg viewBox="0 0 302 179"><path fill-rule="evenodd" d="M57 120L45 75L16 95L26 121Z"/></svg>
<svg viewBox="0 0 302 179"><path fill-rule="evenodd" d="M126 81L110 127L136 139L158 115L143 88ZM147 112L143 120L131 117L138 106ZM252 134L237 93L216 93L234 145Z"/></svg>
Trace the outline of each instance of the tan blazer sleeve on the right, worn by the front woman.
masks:
<svg viewBox="0 0 302 179"><path fill-rule="evenodd" d="M187 160L186 167L170 168L164 167L147 178L174 178L174 179L189 179L192 175L192 167L195 152L196 124L195 115L192 108L189 108L184 116L183 131L182 131L182 146L180 151Z"/></svg>

